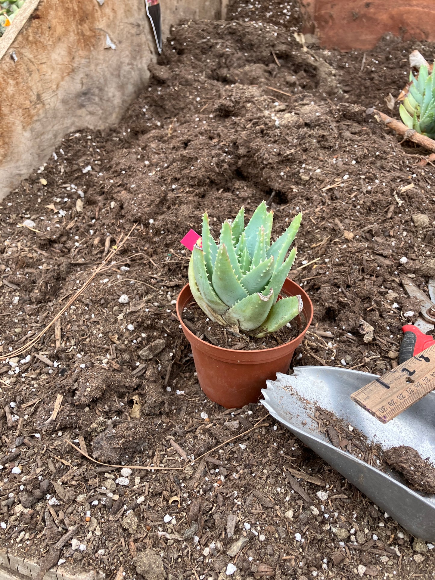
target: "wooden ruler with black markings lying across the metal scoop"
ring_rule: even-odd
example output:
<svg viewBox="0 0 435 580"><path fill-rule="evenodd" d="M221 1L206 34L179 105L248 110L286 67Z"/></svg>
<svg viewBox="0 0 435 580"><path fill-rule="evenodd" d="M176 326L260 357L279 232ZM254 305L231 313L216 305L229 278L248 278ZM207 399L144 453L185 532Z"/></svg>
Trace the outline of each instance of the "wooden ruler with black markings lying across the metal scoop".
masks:
<svg viewBox="0 0 435 580"><path fill-rule="evenodd" d="M435 345L351 394L363 409L388 423L435 389Z"/></svg>

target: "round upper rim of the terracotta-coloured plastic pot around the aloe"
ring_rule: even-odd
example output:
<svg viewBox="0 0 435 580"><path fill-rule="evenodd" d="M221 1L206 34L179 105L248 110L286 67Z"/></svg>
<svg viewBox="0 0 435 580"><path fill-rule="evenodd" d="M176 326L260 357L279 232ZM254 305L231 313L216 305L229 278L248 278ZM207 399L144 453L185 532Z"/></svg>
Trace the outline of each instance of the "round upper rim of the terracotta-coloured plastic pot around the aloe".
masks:
<svg viewBox="0 0 435 580"><path fill-rule="evenodd" d="M307 324L305 326L305 328L303 328L299 333L298 336L296 336L295 338L293 338L292 340L290 340L289 342L285 342L283 345L278 345L278 346L274 346L271 347L269 349L257 349L257 350L233 350L233 349L226 349L223 346L216 346L216 345L212 345L209 342L206 342L206 340L202 340L201 338L199 338L197 335L195 335L193 332L191 332L189 330L189 328L187 328L187 326L184 324L183 322L183 317L182 317L182 313L180 312L180 298L183 295L184 292L188 291L191 294L191 299L194 300L191 289L190 289L190 285L189 283L187 283L179 292L179 295L177 296L177 303L176 303L176 313L177 313L177 318L180 322L180 324L182 325L183 328L183 332L186 335L186 338L189 339L189 342L191 342L190 338L193 340L193 342L201 342L203 345L206 345L206 347L210 347L211 350L215 351L216 354L218 352L222 353L222 356L224 356L225 354L229 355L231 353L232 356L234 356L235 353L240 353L242 354L250 354L252 356L252 354L264 354L264 353L269 353L269 354L273 354L276 355L276 357L279 357L282 355L282 350L286 350L288 349L289 346L292 346L293 344L295 344L296 342L299 341L300 343L300 337L304 336L307 332L307 330L310 327L311 321L313 320L313 315L314 315L314 307L313 307L313 303L311 302L311 299L309 297L309 295L305 292L305 290L299 286L299 284L297 284L297 282L291 280L291 278L286 278L285 279L288 282L291 282L291 284L294 284L296 287L298 287L298 290L300 292L300 295L302 296L302 302L303 302L303 309L302 311L306 311L306 314L308 314L309 316L306 316L306 320L307 320ZM285 284L285 282L284 282ZM284 288L284 285L283 285ZM292 296L291 294L289 294L288 296ZM296 345L295 344L295 348ZM274 357L274 358L276 358ZM263 357L262 357L263 358Z"/></svg>

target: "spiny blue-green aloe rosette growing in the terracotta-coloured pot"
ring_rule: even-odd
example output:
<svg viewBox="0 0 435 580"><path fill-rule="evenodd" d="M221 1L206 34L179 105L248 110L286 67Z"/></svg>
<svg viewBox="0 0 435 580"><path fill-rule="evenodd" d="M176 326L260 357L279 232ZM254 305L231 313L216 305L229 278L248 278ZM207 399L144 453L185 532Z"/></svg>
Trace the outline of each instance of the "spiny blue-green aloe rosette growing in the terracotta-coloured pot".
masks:
<svg viewBox="0 0 435 580"><path fill-rule="evenodd" d="M300 226L302 213L270 243L273 212L264 201L245 228L244 208L234 222L222 224L219 244L213 240L207 213L202 240L193 248L189 263L190 289L205 314L224 327L254 336L275 332L302 311L302 298L278 300L282 285L296 258L288 249Z"/></svg>

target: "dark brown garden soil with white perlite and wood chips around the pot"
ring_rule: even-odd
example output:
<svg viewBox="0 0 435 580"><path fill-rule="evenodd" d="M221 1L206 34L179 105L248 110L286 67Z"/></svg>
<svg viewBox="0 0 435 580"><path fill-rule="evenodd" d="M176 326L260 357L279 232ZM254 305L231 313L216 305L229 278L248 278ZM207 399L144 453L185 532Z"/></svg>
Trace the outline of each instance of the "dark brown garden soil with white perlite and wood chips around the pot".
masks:
<svg viewBox="0 0 435 580"><path fill-rule="evenodd" d="M366 114L435 47L325 52L296 41L295 3L269 5L173 28L121 124L66 135L2 202L3 552L138 580L433 578L433 546L262 406L206 400L176 318L179 240L263 199L273 235L303 212L291 277L314 319L294 365L381 375L418 313L401 275L435 274L433 165Z"/></svg>

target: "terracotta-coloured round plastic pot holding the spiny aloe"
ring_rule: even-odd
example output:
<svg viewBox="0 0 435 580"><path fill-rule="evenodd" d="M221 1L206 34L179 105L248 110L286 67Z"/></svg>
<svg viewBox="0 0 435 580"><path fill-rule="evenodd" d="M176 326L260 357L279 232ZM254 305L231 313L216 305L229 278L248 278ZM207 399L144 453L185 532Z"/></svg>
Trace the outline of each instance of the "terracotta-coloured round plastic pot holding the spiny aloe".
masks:
<svg viewBox="0 0 435 580"><path fill-rule="evenodd" d="M313 304L307 293L287 280L281 295L300 294L303 302L305 328L300 329L297 338L285 345L264 350L231 350L211 345L201 340L183 322L183 310L193 301L187 284L177 298L177 316L184 335L190 342L198 381L206 396L227 409L240 408L248 403L256 403L267 379L276 379L277 372L287 372L296 347L302 342L313 318ZM300 318L296 318L299 320Z"/></svg>

